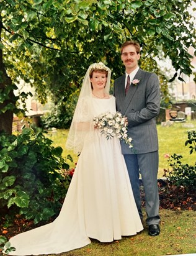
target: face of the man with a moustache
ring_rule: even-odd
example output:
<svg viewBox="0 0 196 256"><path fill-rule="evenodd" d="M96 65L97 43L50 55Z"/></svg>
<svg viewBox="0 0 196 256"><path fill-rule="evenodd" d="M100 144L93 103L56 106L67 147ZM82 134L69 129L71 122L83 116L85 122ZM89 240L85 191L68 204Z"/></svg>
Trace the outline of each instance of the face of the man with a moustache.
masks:
<svg viewBox="0 0 196 256"><path fill-rule="evenodd" d="M138 67L140 53L136 53L136 49L133 45L127 45L123 48L121 59L125 65L127 73L130 73Z"/></svg>

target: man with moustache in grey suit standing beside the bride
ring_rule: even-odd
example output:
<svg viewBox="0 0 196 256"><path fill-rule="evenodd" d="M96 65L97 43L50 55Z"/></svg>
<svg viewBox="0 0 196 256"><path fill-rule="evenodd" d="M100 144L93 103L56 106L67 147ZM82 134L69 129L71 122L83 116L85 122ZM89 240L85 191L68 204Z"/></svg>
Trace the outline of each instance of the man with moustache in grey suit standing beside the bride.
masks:
<svg viewBox="0 0 196 256"><path fill-rule="evenodd" d="M117 111L127 117L128 135L133 139L133 148L121 143L127 164L131 186L138 212L142 219L140 180L143 181L146 202L146 224L149 235L159 235L158 194L158 134L156 116L160 108L158 76L141 70L138 66L140 45L127 41L121 47L121 59L126 73L114 82ZM128 77L129 76L129 77ZM131 216L130 216L131 217Z"/></svg>

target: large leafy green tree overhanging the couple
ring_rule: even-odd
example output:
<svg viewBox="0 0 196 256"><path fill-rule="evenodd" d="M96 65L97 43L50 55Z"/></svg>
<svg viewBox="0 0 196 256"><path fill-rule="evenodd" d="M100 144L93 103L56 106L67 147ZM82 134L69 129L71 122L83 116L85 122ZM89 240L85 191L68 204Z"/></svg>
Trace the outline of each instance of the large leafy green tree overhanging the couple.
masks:
<svg viewBox="0 0 196 256"><path fill-rule="evenodd" d="M0 130L11 131L13 85L30 83L41 103L48 94L65 103L87 66L103 61L112 78L122 74L119 47L140 42L141 67L163 76L157 58L169 57L176 73L190 75L195 27L191 0L4 0L0 5ZM159 53L161 52L161 57ZM167 84L162 85L167 96ZM20 94L24 100L27 94Z"/></svg>

